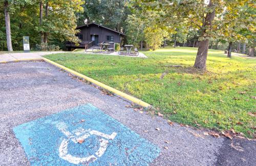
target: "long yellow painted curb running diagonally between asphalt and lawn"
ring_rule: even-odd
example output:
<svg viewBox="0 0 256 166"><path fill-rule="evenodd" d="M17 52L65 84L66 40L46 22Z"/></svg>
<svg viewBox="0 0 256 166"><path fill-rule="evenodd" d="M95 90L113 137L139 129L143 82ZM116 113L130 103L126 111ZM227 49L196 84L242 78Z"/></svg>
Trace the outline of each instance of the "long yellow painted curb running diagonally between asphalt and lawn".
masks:
<svg viewBox="0 0 256 166"><path fill-rule="evenodd" d="M125 99L127 99L127 100L130 100L130 101L132 101L132 102L134 102L134 103L136 103L136 104L138 104L138 105L141 105L141 106L143 106L143 107L150 107L150 106L151 106L150 104L148 104L148 103L146 103L146 102L144 102L144 101L142 101L142 100L140 100L140 99L137 99L137 98L135 98L135 97L133 97L133 96L131 96L131 95L128 95L128 94L126 94L126 93L123 93L123 92L121 92L121 91L119 91L119 90L116 90L116 89L114 89L114 88L112 88L112 87L110 87L110 86L107 86L107 85L105 85L105 84L103 84L103 83L101 83L101 82L99 82L99 81L97 81L97 80L95 80L95 79L93 79L93 78L90 78L90 77L88 77L88 76L85 76L85 75L83 75L83 74L80 74L80 73L78 73L78 72L76 72L76 71L74 71L74 70L71 70L71 69L69 69L69 68L67 68L67 67L65 67L65 66L62 66L62 65L60 65L60 64L57 64L57 63L55 63L55 62L53 62L53 61L51 61L51 60L48 60L48 59L46 59L46 58L43 58L43 60L44 60L45 62L47 62L47 63L50 63L50 64L52 64L52 65L58 67L58 68L61 68L61 69L65 70L65 71L67 71L67 72L69 72L69 73L71 73L71 74L73 74L73 75L75 75L75 76L77 76L77 77L79 77L79 78L83 78L83 79L85 79L85 80L88 80L88 81L92 82L93 84L95 84L95 85L97 85L97 86L99 86L99 87L101 87L101 88L104 88L104 89L106 89L106 90L108 90L108 91L110 91L110 92L113 92L113 93L115 93L116 95L121 96L121 97L123 97L123 98L125 98Z"/></svg>

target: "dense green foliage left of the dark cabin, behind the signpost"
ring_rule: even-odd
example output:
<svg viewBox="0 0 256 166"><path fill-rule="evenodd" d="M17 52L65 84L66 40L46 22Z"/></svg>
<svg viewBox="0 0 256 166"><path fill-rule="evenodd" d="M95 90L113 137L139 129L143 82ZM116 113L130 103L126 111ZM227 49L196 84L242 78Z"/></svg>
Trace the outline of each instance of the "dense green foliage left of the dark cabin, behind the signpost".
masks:
<svg viewBox="0 0 256 166"><path fill-rule="evenodd" d="M75 13L81 12L82 0L43 0L44 17L39 25L39 1L20 0L9 1L11 22L11 38L14 50L23 50L23 36L30 37L30 45L34 47L40 43L39 32L48 34L48 42L60 43L64 40L78 42L75 34ZM49 4L48 16L45 16L46 2ZM3 1L0 1L0 24L5 25ZM0 50L6 50L5 26L0 27ZM62 42L62 43L61 43ZM61 46L63 47L63 46Z"/></svg>

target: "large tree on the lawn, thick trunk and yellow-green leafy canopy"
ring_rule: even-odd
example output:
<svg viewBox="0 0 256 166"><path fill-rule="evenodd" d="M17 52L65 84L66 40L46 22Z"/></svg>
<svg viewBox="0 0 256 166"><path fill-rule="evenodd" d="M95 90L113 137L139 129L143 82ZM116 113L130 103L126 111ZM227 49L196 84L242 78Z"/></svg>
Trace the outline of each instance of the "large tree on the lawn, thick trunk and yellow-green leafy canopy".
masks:
<svg viewBox="0 0 256 166"><path fill-rule="evenodd" d="M216 32L217 16L222 14L230 4L234 6L230 9L235 11L237 6L244 6L250 0L134 0L136 3L134 7L138 6L143 10L163 11L159 20L165 23L166 26L176 26L174 23L184 22L185 27L197 27L200 31L199 48L197 52L195 68L205 69L206 59L210 39L216 39L218 33ZM234 12L232 12L234 13Z"/></svg>

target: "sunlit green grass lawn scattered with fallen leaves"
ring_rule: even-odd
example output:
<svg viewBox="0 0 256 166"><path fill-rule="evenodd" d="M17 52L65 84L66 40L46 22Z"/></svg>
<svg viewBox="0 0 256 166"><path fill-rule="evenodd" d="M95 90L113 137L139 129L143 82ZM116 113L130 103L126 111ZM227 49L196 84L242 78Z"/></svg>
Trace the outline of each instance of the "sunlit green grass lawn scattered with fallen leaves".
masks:
<svg viewBox="0 0 256 166"><path fill-rule="evenodd" d="M255 117L248 113L255 114L255 59L229 59L223 51L209 49L207 71L200 72L193 68L196 48L143 53L147 59L82 53L46 58L152 104L171 121L233 128L253 137Z"/></svg>

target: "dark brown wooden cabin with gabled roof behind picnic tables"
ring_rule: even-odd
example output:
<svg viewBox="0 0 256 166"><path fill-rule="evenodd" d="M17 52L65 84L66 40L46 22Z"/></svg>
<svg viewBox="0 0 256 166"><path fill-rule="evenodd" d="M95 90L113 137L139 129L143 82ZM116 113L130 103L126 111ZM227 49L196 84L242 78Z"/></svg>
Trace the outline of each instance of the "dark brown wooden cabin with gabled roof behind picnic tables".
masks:
<svg viewBox="0 0 256 166"><path fill-rule="evenodd" d="M120 43L123 33L109 29L108 27L102 26L97 23L89 23L77 26L77 30L80 30L76 36L82 41L79 46L74 43L66 41L66 47L71 50L73 48L84 48L84 44L89 43L89 47L97 45L102 42L114 42Z"/></svg>

